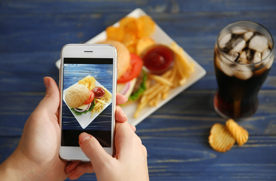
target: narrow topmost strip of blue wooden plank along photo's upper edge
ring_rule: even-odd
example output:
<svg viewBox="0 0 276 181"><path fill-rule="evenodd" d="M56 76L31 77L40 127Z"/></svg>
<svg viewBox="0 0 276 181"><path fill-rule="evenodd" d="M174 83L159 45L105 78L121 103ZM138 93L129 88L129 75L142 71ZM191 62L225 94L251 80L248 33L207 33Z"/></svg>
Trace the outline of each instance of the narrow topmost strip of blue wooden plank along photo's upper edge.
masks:
<svg viewBox="0 0 276 181"><path fill-rule="evenodd" d="M12 3L11 3L12 2ZM54 8L53 8L53 5ZM200 6L204 5L204 6ZM265 3L259 1L213 1L206 2L204 0L194 1L2 1L1 11L4 13L108 13L108 12L127 12L137 7L143 8L151 12L214 12L214 11L269 11L274 10L275 2L266 0ZM66 8L65 8L66 7Z"/></svg>

